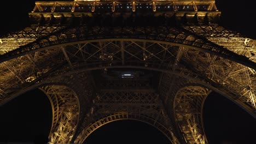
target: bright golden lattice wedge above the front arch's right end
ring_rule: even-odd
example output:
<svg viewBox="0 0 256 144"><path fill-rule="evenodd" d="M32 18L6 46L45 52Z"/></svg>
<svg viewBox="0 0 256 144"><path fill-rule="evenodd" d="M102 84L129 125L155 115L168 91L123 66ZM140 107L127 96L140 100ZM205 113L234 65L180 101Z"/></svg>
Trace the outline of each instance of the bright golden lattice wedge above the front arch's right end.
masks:
<svg viewBox="0 0 256 144"><path fill-rule="evenodd" d="M241 35L239 32L231 31L219 25L187 25L183 28L256 62L256 41Z"/></svg>

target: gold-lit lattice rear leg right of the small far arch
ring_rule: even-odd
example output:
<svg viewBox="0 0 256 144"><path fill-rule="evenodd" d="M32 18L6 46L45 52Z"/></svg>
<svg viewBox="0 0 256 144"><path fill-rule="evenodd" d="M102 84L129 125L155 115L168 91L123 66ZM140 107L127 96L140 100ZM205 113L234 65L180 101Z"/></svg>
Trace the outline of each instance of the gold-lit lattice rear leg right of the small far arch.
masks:
<svg viewBox="0 0 256 144"><path fill-rule="evenodd" d="M164 74L159 86L159 95L166 109L176 122L176 133L185 143L208 143L202 125L204 100L211 92L193 80Z"/></svg>

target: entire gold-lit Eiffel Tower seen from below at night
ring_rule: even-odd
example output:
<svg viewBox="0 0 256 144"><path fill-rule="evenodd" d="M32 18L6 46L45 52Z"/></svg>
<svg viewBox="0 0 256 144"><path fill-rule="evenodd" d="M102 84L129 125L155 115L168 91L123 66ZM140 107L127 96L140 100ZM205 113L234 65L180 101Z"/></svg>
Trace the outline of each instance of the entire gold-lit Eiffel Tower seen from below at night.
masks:
<svg viewBox="0 0 256 144"><path fill-rule="evenodd" d="M208 143L213 92L256 118L256 41L220 26L215 1L36 2L29 16L0 37L0 105L44 92L49 143L83 143L121 119L170 143Z"/></svg>

